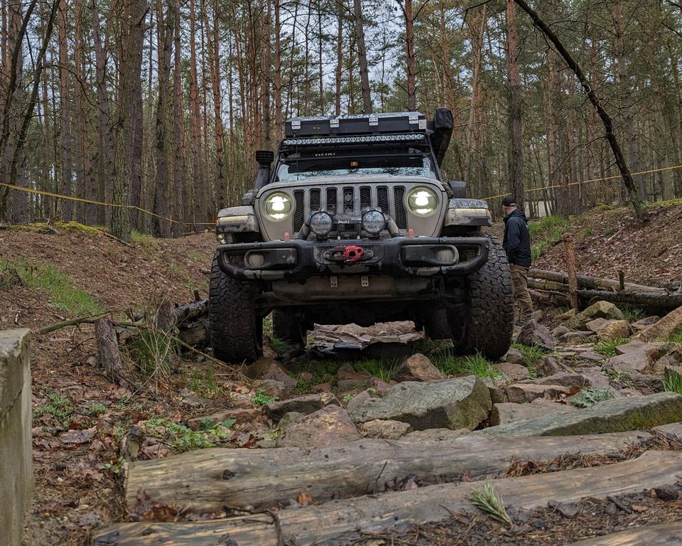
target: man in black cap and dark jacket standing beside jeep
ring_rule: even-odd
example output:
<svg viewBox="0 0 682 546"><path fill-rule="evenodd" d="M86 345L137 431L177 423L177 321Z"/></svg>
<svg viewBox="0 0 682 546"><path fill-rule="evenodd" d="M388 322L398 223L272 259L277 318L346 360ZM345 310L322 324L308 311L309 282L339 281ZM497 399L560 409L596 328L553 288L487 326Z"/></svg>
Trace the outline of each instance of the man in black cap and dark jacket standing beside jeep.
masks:
<svg viewBox="0 0 682 546"><path fill-rule="evenodd" d="M507 252L511 284L514 287L514 300L519 304L519 321L523 326L531 319L533 301L528 291L528 269L531 267L531 236L528 232L528 219L523 210L516 208L512 197L502 199L504 210L504 240L502 246Z"/></svg>

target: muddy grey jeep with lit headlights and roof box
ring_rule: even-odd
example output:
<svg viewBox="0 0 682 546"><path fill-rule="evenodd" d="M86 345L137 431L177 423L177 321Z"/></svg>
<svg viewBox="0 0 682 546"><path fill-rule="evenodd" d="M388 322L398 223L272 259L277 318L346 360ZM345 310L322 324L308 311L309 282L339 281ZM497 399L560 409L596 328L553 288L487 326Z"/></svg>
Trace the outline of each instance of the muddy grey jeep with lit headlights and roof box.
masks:
<svg viewBox="0 0 682 546"><path fill-rule="evenodd" d="M295 117L275 154L257 151L255 186L220 210L210 279L212 347L230 363L273 336L305 346L318 324L413 321L458 353L504 355L514 300L484 200L440 165L449 109ZM274 168L272 164L274 161Z"/></svg>

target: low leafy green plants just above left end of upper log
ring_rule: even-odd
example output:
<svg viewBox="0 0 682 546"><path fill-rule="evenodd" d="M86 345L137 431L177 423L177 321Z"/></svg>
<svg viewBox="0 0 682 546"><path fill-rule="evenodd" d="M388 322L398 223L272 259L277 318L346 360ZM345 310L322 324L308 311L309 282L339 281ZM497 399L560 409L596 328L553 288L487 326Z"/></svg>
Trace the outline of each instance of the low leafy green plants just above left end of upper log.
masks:
<svg viewBox="0 0 682 546"><path fill-rule="evenodd" d="M228 419L216 424L209 421L202 421L202 429L192 430L171 419L149 419L144 423L144 431L150 436L165 439L175 451L180 452L229 443L232 439L229 429L235 420Z"/></svg>

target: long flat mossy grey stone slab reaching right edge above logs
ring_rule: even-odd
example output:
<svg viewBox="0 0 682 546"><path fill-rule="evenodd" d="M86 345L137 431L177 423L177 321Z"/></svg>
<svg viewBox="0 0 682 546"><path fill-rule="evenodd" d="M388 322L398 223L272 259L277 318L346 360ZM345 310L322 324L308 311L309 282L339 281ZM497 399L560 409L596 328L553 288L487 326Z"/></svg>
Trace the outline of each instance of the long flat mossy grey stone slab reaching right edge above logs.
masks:
<svg viewBox="0 0 682 546"><path fill-rule="evenodd" d="M659 392L641 397L622 397L565 414L548 414L472 434L511 436L570 436L648 429L682 420L682 395Z"/></svg>

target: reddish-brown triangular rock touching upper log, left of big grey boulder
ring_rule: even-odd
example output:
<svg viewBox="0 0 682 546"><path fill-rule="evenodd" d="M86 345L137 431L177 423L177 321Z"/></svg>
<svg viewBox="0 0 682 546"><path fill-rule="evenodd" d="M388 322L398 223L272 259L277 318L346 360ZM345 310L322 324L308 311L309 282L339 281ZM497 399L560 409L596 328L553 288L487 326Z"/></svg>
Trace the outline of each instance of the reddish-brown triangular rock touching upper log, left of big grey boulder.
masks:
<svg viewBox="0 0 682 546"><path fill-rule="evenodd" d="M277 446L322 447L359 439L357 428L346 410L330 405L290 424L277 439Z"/></svg>

